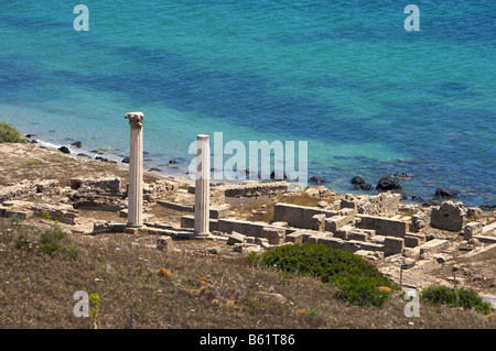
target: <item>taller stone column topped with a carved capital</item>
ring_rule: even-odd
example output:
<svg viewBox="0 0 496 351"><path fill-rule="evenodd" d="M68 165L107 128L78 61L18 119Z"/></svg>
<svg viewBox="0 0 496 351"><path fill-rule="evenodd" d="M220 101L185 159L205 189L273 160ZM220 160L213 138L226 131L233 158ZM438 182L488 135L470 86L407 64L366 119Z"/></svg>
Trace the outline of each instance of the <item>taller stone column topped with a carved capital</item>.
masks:
<svg viewBox="0 0 496 351"><path fill-rule="evenodd" d="M142 112L129 112L125 117L131 125L129 152L128 227L143 226L143 132Z"/></svg>

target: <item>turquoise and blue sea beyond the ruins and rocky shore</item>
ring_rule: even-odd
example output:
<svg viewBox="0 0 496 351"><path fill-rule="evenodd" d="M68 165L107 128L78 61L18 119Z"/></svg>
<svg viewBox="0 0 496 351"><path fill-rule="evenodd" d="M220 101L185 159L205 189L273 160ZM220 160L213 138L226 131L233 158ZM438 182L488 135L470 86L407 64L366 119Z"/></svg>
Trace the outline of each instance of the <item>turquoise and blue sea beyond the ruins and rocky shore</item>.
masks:
<svg viewBox="0 0 496 351"><path fill-rule="evenodd" d="M409 3L420 31L403 28ZM489 0L3 0L0 120L120 160L123 116L142 111L147 166L163 172L223 132L308 141L309 177L333 190L410 173L409 198L452 187L495 205L495 58Z"/></svg>

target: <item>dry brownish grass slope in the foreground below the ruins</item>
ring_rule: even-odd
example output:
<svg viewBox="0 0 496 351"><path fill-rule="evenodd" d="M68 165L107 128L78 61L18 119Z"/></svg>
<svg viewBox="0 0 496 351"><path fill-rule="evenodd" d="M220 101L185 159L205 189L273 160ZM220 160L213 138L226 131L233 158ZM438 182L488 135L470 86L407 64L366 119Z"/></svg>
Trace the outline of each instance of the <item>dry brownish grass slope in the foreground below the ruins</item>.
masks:
<svg viewBox="0 0 496 351"><path fill-rule="evenodd" d="M73 314L77 290L98 294L98 328L127 328L131 306L133 328L309 328L312 310L315 328L496 327L494 317L423 304L420 318L407 318L398 294L380 309L348 305L315 278L185 241L164 253L147 248L153 237L72 234L80 254L69 260L15 249L10 220L0 232L0 328L91 328L91 318Z"/></svg>

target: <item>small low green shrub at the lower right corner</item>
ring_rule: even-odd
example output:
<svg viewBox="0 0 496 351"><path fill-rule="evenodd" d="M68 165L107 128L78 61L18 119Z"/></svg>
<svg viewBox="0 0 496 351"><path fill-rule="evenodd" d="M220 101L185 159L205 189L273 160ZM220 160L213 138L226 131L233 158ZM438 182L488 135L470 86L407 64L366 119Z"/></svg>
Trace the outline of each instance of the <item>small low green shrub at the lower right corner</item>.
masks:
<svg viewBox="0 0 496 351"><path fill-rule="evenodd" d="M485 301L477 292L463 287L457 289L444 285L428 287L422 290L422 299L434 306L460 306L486 315L493 310L493 306Z"/></svg>

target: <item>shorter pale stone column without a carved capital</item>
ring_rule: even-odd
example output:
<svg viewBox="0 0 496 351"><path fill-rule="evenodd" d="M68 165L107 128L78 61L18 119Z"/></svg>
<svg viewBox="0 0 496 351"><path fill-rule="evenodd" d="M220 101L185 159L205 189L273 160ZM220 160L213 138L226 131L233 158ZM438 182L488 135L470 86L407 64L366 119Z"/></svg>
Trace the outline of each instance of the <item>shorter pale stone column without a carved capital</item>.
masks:
<svg viewBox="0 0 496 351"><path fill-rule="evenodd" d="M196 138L195 234L209 234L211 215L211 145L208 135Z"/></svg>

